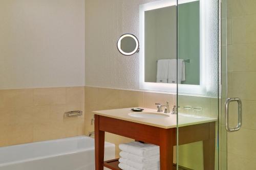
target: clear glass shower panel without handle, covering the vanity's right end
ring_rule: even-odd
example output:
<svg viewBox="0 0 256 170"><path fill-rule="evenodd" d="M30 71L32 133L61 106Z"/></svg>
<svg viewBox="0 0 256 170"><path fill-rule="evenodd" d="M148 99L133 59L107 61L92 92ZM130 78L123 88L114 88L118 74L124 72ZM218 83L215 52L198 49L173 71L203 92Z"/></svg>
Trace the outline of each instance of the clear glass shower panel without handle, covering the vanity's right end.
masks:
<svg viewBox="0 0 256 170"><path fill-rule="evenodd" d="M177 164L218 169L218 1L179 0L177 65Z"/></svg>

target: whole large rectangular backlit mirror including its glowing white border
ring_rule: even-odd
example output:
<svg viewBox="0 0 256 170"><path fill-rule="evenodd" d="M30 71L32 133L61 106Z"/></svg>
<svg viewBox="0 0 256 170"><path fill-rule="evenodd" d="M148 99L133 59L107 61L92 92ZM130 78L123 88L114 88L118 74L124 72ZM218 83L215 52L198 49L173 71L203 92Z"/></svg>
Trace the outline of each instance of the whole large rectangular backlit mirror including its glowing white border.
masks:
<svg viewBox="0 0 256 170"><path fill-rule="evenodd" d="M175 93L179 85L184 94L214 93L219 54L218 13L209 10L214 3L159 0L140 5L140 89Z"/></svg>

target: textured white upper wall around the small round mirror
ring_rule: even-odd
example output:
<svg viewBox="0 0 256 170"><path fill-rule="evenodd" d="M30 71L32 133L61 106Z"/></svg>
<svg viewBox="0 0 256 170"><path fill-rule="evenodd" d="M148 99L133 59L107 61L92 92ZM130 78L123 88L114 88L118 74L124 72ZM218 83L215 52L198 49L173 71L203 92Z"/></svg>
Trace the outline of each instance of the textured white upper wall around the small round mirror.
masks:
<svg viewBox="0 0 256 170"><path fill-rule="evenodd" d="M86 0L86 85L139 89L139 53L123 56L117 40L139 38L139 5L156 0Z"/></svg>

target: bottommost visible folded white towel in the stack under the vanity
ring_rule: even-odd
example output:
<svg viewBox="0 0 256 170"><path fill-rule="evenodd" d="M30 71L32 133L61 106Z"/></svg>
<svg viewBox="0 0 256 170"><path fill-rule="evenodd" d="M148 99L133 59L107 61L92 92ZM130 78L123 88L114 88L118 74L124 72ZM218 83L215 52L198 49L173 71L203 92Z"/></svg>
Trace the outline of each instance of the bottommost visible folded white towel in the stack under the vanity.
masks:
<svg viewBox="0 0 256 170"><path fill-rule="evenodd" d="M138 170L145 170L145 169L148 169L148 168L160 167L160 161L151 162L151 163L137 163L137 162L131 161L129 159L120 158L119 162L123 163L125 165L132 166L132 167L134 167Z"/></svg>

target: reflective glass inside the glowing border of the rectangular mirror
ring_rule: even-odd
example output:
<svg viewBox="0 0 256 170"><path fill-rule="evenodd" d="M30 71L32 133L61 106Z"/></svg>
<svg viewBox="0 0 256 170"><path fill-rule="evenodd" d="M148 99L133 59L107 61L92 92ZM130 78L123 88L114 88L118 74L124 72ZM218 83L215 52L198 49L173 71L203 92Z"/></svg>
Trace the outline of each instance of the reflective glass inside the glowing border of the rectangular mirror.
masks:
<svg viewBox="0 0 256 170"><path fill-rule="evenodd" d="M144 11L145 82L200 85L200 4L178 8L178 23L176 5Z"/></svg>

